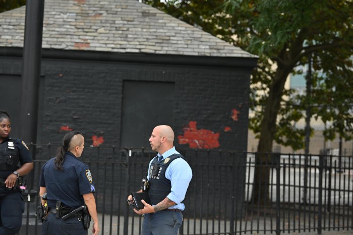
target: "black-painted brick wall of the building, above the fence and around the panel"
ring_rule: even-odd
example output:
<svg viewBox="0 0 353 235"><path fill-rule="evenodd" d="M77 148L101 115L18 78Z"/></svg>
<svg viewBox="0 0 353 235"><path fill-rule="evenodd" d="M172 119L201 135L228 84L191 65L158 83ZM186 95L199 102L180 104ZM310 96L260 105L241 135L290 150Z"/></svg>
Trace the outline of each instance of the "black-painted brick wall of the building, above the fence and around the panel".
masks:
<svg viewBox="0 0 353 235"><path fill-rule="evenodd" d="M0 65L0 75L20 74L20 59L0 58ZM60 143L71 128L81 130L89 145L97 136L104 145L119 146L122 84L133 80L174 83L176 146L183 128L195 121L197 129L219 133L220 149L246 151L250 70L43 59L41 74L42 143ZM234 108L238 121L231 119Z"/></svg>

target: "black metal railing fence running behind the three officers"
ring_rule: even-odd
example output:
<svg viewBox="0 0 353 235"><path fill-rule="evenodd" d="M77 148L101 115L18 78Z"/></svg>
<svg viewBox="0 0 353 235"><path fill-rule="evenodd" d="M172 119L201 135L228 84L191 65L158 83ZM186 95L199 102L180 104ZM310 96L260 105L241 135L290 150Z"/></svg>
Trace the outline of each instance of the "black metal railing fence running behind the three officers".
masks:
<svg viewBox="0 0 353 235"><path fill-rule="evenodd" d="M40 168L57 148L35 147L19 234L40 234L35 221ZM180 234L353 229L351 156L266 154L259 161L256 153L178 150L193 170ZM96 186L100 234L140 234L142 218L126 199L140 188L153 156L145 149L85 148L80 159L90 166ZM254 182L256 174L262 178Z"/></svg>

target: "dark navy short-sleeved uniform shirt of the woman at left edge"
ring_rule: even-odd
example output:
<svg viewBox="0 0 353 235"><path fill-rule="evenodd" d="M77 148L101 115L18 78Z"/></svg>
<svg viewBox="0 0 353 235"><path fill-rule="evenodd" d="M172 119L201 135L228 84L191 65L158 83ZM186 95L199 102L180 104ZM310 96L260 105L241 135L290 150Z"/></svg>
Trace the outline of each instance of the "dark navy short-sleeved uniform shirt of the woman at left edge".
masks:
<svg viewBox="0 0 353 235"><path fill-rule="evenodd" d="M21 163L21 165L28 163L28 162L33 162L31 154L28 151L28 148L25 144L25 142L23 142L20 139L6 139L4 140L2 143L0 143L0 145L6 145L6 147L9 146L9 142L13 142L14 143L14 147L18 149L19 155L20 155L20 160L19 162ZM19 167L20 168L20 167ZM12 172L14 172L13 170L8 171L8 170L0 170L0 178L6 180L8 178L8 176L10 174L12 174Z"/></svg>

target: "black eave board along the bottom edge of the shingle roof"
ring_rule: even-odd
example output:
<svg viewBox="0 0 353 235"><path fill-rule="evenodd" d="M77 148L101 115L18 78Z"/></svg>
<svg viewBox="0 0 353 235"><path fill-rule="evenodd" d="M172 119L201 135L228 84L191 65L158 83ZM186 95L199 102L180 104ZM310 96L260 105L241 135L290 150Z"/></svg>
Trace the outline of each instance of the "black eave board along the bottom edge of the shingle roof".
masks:
<svg viewBox="0 0 353 235"><path fill-rule="evenodd" d="M22 57L22 47L0 47L0 56ZM200 55L149 54L149 53L119 53L104 51L79 51L61 49L42 49L42 58L101 61L139 64L162 64L184 66L207 66L243 68L252 70L256 65L257 57L216 57Z"/></svg>

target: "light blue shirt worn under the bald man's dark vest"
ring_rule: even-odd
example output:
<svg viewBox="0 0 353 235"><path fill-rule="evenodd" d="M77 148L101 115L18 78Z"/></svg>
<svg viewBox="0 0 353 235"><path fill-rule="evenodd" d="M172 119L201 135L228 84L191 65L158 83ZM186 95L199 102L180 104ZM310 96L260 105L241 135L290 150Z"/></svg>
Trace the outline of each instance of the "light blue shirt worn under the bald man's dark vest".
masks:
<svg viewBox="0 0 353 235"><path fill-rule="evenodd" d="M180 154L177 150L175 150L175 147L172 147L171 149L163 153L162 160L175 153ZM156 157L158 158L159 156L160 154L158 153ZM153 159L154 158L152 158L152 160L150 161L148 169L151 167ZM189 183L192 177L193 172L190 168L190 165L183 158L177 158L173 160L166 168L165 178L171 182L171 192L167 195L167 198L177 203L177 205L173 205L169 207L169 209L185 209L184 203L181 202L185 198L185 194L188 190ZM147 178L149 179L149 171L147 174Z"/></svg>

